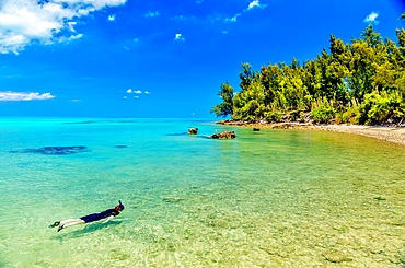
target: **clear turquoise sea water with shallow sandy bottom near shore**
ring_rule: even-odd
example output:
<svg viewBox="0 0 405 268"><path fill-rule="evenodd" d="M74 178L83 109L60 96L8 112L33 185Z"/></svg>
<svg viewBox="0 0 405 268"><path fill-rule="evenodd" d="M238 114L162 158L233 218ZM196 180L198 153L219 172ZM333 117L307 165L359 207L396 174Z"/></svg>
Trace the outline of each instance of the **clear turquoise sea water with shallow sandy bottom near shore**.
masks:
<svg viewBox="0 0 405 268"><path fill-rule="evenodd" d="M2 118L0 141L0 267L405 267L403 147L177 119Z"/></svg>

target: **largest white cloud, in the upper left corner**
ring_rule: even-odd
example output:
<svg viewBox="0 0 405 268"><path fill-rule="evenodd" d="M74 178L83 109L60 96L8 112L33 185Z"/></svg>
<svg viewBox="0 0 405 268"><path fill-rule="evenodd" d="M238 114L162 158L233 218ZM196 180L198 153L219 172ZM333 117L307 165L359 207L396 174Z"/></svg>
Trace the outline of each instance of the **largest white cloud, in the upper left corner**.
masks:
<svg viewBox="0 0 405 268"><path fill-rule="evenodd" d="M92 12L126 0L1 0L0 53L23 50L32 43L49 45L82 37L74 26Z"/></svg>

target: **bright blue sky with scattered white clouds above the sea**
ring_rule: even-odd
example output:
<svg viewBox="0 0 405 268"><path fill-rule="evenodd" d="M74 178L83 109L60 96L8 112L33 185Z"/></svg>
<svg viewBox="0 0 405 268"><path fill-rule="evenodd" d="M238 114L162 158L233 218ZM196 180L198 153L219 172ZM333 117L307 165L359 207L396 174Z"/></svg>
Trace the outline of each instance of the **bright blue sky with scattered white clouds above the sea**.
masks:
<svg viewBox="0 0 405 268"><path fill-rule="evenodd" d="M242 62L315 58L401 0L2 0L0 116L213 118Z"/></svg>

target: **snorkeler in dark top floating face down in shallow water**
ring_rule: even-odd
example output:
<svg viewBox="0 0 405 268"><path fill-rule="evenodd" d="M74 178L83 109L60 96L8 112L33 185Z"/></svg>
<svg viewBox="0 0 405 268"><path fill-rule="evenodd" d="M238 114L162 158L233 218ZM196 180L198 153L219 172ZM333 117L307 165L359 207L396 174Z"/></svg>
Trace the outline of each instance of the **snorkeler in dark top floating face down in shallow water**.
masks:
<svg viewBox="0 0 405 268"><path fill-rule="evenodd" d="M49 228L58 226L58 232L59 232L63 228L68 228L68 226L72 226L72 225L81 224L81 223L89 223L89 222L93 222L93 221L100 221L100 220L105 219L105 218L107 218L107 220L104 221L103 223L107 223L114 217L118 215L120 211L124 210L124 205L120 202L120 200L118 202L119 203L117 206L115 206L114 209L107 209L107 210L102 211L100 213L83 215L79 219L68 219L68 220L65 220L65 221L56 221L56 222L54 222L54 224L49 225Z"/></svg>

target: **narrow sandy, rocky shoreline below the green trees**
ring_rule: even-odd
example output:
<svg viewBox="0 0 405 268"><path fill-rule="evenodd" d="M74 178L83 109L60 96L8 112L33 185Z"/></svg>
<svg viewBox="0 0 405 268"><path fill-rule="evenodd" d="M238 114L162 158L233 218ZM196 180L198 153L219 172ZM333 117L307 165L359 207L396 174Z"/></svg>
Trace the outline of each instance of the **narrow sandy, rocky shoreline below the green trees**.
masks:
<svg viewBox="0 0 405 268"><path fill-rule="evenodd" d="M263 128L263 129L298 129L298 130L320 130L333 131L350 135L359 135L379 140L384 140L405 147L405 128L404 127L380 127L363 125L322 125L305 123L244 123L244 121L217 121L218 125Z"/></svg>

